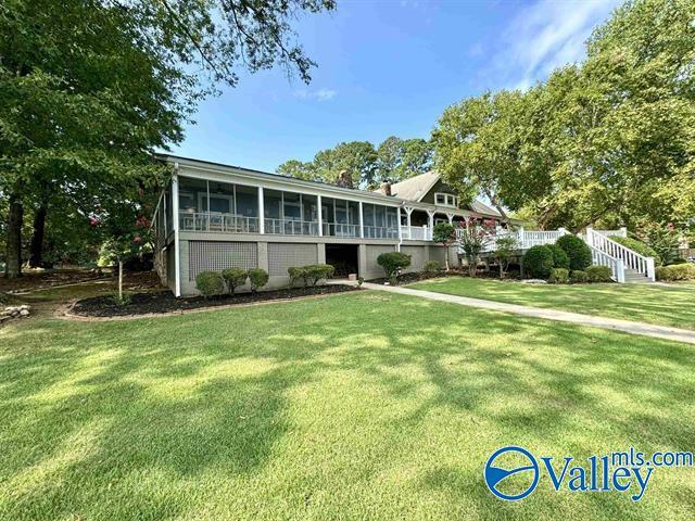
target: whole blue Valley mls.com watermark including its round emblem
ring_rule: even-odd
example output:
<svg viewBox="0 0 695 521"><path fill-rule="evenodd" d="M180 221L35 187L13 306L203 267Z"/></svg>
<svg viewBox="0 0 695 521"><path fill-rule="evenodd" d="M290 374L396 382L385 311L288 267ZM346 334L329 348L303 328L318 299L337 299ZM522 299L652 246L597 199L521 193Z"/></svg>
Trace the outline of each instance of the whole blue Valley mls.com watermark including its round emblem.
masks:
<svg viewBox="0 0 695 521"><path fill-rule="evenodd" d="M656 452L647 456L634 447L590 456L585 460L571 456L536 458L526 448L510 445L490 456L483 476L490 492L507 501L517 501L533 493L543 473L556 492L618 492L639 501L656 468L693 467L694 459L693 453Z"/></svg>

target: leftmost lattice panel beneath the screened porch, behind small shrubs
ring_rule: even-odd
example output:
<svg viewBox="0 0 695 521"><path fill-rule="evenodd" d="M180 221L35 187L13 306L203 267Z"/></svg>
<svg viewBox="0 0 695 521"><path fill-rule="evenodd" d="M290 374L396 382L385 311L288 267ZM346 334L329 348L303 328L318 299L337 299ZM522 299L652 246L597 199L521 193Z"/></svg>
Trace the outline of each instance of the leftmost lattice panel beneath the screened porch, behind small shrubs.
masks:
<svg viewBox="0 0 695 521"><path fill-rule="evenodd" d="M255 242L190 241L188 266L188 280L195 280L201 271L257 268L258 246Z"/></svg>

